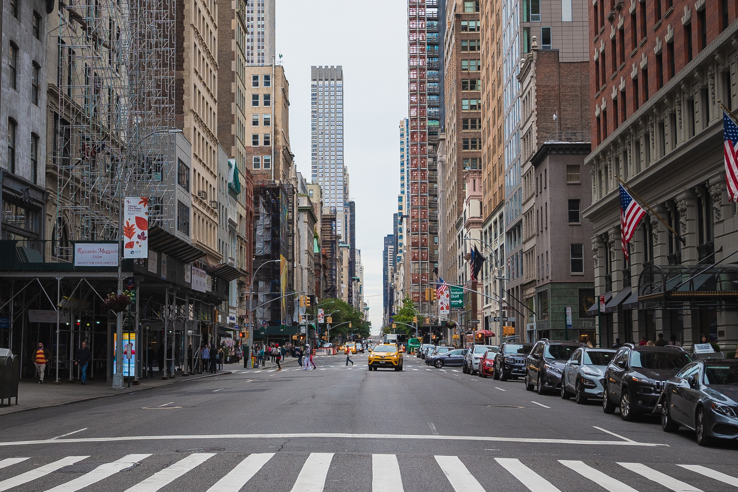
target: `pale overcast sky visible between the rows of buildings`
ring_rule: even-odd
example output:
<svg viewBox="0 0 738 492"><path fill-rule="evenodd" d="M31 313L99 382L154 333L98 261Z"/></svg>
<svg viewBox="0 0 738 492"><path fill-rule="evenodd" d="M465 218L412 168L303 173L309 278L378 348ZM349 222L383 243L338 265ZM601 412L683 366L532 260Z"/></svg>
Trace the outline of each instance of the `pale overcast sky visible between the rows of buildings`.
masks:
<svg viewBox="0 0 738 492"><path fill-rule="evenodd" d="M344 163L356 201L356 248L374 330L382 326L383 238L399 193L399 122L407 117L402 0L277 0L277 54L289 80L289 138L309 182L310 67L343 66Z"/></svg>

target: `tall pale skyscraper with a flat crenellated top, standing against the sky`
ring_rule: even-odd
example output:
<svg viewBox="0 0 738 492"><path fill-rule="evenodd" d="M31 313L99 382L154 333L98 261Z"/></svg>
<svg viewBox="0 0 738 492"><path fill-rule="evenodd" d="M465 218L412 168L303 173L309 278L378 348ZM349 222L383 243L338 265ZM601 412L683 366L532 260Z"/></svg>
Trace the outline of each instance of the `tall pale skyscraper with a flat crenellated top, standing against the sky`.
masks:
<svg viewBox="0 0 738 492"><path fill-rule="evenodd" d="M325 207L336 208L336 232L346 240L348 170L343 165L342 66L313 66L310 95L312 181L323 188Z"/></svg>

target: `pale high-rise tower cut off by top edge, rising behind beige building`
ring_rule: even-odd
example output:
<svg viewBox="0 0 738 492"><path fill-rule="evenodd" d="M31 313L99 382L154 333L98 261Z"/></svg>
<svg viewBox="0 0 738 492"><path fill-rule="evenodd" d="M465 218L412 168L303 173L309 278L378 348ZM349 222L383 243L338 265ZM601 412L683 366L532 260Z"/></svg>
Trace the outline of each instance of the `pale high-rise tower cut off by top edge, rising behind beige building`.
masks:
<svg viewBox="0 0 738 492"><path fill-rule="evenodd" d="M275 56L276 0L246 4L246 64L271 65Z"/></svg>

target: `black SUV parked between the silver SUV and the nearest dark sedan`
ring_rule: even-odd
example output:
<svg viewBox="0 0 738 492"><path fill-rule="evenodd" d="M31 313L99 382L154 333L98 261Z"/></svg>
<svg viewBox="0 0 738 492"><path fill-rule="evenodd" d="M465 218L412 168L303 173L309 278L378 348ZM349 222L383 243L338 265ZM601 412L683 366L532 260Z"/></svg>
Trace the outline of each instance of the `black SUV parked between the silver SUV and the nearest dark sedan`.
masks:
<svg viewBox="0 0 738 492"><path fill-rule="evenodd" d="M692 362L681 347L620 347L607 366L604 378L602 410L615 412L620 406L623 420L633 420L641 413L651 413L666 380Z"/></svg>

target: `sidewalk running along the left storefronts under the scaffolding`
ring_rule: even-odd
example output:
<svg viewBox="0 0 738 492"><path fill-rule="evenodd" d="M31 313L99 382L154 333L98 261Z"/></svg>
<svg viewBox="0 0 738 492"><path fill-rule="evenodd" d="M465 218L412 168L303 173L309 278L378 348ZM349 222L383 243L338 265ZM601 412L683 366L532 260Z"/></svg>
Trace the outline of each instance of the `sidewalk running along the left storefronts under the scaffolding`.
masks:
<svg viewBox="0 0 738 492"><path fill-rule="evenodd" d="M226 366L231 366L234 370L238 368L238 364L224 365L224 367ZM128 387L128 381L125 381L124 389L111 389L111 383L104 379L88 380L87 384L82 385L79 381L70 383L65 379L61 380L61 384L54 384L54 378L52 376L46 376L44 378L44 384L38 384L38 380L33 378L25 378L21 379L18 383L18 405L15 405L15 398L13 398L13 405L8 406L6 404L0 408L0 415L25 412L27 410L49 406L68 405L69 403L79 403L81 401L97 400L98 398L107 398L108 396L125 395L127 393L144 391L145 389L177 384L183 381L212 378L213 376L226 374L232 374L232 372L230 370L223 370L215 374L178 375L176 378L168 379L167 381L162 381L161 375L159 375L159 377L139 379L141 384L138 386L134 386L133 381L131 381L130 388Z"/></svg>

